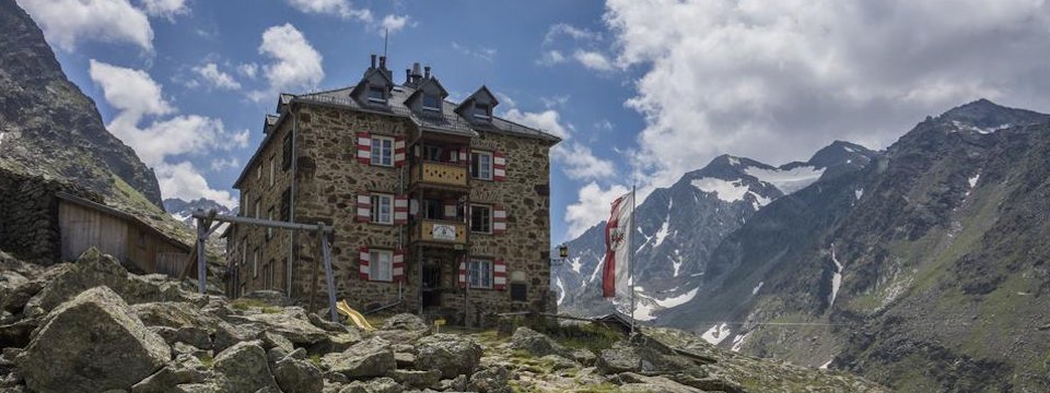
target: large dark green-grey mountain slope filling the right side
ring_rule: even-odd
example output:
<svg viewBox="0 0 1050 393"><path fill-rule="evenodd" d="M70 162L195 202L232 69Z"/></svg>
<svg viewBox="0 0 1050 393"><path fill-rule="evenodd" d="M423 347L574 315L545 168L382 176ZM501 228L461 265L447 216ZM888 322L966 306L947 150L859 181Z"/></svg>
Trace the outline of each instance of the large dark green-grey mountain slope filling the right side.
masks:
<svg viewBox="0 0 1050 393"><path fill-rule="evenodd" d="M1050 116L973 102L755 213L660 313L900 391L1050 389Z"/></svg>

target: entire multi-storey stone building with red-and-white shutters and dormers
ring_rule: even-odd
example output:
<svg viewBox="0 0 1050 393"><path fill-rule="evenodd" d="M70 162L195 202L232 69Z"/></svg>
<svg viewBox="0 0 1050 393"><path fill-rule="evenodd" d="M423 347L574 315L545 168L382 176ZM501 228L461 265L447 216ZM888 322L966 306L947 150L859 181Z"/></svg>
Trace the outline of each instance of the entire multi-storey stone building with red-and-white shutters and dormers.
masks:
<svg viewBox="0 0 1050 393"><path fill-rule="evenodd" d="M396 84L378 60L355 85L280 95L234 184L241 214L332 225L337 297L359 310L474 325L555 307L549 150L560 139L494 116L485 86L455 104L429 67ZM234 225L226 237L232 296L326 297L315 234Z"/></svg>

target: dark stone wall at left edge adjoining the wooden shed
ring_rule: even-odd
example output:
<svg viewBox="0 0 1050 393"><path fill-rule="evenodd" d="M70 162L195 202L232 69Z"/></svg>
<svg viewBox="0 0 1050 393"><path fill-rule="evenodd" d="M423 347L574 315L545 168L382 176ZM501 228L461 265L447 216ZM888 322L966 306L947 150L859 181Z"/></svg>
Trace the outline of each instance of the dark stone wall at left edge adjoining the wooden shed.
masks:
<svg viewBox="0 0 1050 393"><path fill-rule="evenodd" d="M0 249L27 262L60 262L58 192L103 201L82 187L0 168Z"/></svg>

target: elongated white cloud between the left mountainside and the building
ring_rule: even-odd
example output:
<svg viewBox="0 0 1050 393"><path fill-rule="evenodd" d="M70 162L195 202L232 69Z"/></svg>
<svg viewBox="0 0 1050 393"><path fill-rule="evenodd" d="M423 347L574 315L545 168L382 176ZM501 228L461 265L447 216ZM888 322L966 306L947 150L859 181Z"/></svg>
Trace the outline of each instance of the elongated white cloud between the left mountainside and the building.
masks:
<svg viewBox="0 0 1050 393"><path fill-rule="evenodd" d="M246 147L247 130L228 132L222 120L198 115L156 119L174 114L175 108L164 99L161 85L144 71L91 59L89 75L102 88L106 102L117 110L117 116L106 128L131 146L143 163L153 167L163 195L185 200L203 196L228 206L236 203L228 191L208 187L192 164L173 165L167 160L180 155ZM149 126L140 127L147 117L153 120Z"/></svg>

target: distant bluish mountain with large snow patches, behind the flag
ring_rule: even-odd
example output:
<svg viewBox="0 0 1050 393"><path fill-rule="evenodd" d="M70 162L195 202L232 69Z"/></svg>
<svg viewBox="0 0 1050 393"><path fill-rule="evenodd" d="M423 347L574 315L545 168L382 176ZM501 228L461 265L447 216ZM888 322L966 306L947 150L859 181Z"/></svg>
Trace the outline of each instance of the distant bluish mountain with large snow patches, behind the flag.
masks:
<svg viewBox="0 0 1050 393"><path fill-rule="evenodd" d="M697 295L710 253L756 212L821 178L837 178L864 168L875 155L863 146L837 141L805 163L773 167L749 158L723 155L682 176L669 188L653 191L635 210L634 248L640 320ZM567 242L570 257L552 272L559 307L580 315L611 312L600 297L605 223Z"/></svg>

